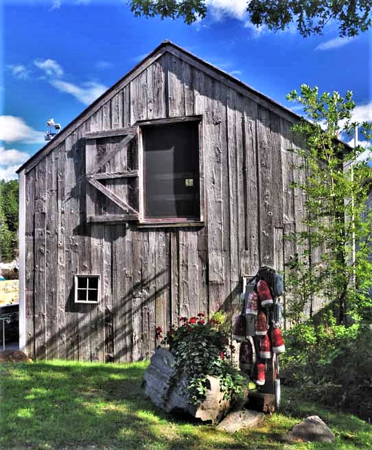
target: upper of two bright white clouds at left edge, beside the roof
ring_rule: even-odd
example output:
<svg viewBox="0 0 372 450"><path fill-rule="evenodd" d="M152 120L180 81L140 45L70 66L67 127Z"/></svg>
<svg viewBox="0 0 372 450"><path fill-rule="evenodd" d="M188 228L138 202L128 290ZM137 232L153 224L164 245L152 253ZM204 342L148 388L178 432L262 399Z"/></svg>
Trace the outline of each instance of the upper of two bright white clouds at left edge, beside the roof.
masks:
<svg viewBox="0 0 372 450"><path fill-rule="evenodd" d="M34 130L21 117L0 116L0 141L44 143L44 132Z"/></svg>

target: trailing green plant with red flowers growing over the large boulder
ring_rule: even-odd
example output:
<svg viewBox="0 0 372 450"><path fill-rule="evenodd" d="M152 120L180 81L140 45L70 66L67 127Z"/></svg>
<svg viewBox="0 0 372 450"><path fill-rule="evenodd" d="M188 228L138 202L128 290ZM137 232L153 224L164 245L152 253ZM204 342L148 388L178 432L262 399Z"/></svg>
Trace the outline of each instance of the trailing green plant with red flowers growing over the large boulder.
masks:
<svg viewBox="0 0 372 450"><path fill-rule="evenodd" d="M177 329L172 327L167 331L162 344L168 344L175 357L173 381L183 375L189 381L189 401L198 405L205 399L209 388L208 375L220 379L224 398L241 396L245 380L231 363L229 337L221 313L218 313L218 318L213 316L209 320L199 313L197 317L181 317L180 322ZM159 327L156 328L156 337L161 337Z"/></svg>

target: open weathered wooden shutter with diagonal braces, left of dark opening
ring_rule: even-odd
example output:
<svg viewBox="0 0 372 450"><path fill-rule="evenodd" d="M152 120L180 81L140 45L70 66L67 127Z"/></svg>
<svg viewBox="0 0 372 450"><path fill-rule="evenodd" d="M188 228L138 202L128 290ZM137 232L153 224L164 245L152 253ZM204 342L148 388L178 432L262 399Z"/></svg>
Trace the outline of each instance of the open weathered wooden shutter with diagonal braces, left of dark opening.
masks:
<svg viewBox="0 0 372 450"><path fill-rule="evenodd" d="M86 221L139 220L137 128L86 134Z"/></svg>

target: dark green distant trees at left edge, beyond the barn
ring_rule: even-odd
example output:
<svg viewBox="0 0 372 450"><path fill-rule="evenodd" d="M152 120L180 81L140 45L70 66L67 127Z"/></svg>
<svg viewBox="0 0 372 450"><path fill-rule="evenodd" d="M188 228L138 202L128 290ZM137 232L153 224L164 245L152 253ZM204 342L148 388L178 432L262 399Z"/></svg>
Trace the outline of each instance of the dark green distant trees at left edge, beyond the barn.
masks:
<svg viewBox="0 0 372 450"><path fill-rule="evenodd" d="M12 261L18 247L17 180L0 180L0 261Z"/></svg>

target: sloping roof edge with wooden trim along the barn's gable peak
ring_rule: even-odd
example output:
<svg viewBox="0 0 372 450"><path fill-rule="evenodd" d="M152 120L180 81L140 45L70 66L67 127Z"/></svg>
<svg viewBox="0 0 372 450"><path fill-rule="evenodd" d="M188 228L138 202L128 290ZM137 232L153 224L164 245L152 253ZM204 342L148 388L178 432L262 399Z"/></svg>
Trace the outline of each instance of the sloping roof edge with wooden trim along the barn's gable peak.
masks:
<svg viewBox="0 0 372 450"><path fill-rule="evenodd" d="M297 121L300 116L285 108L281 104L275 102L275 100L270 99L266 95L255 91L255 89L248 86L244 82L237 80L229 73L222 71L213 64L198 58L194 54L191 54L189 51L186 51L182 47L178 47L174 43L170 42L170 40L164 40L156 49L154 49L146 58L144 58L139 64L137 64L131 71L129 71L123 78L117 81L111 88L103 93L100 97L98 97L95 102L89 105L85 110L83 110L78 117L73 119L65 128L49 141L46 145L44 145L36 154L34 154L28 161L26 161L19 169L17 173L19 174L21 171L25 170L30 171L35 165L42 159L44 156L49 154L51 150L57 147L62 141L64 141L69 134L76 130L86 119L89 119L91 115L93 115L97 110L99 110L106 102L108 102L112 97L114 97L126 84L130 83L134 80L137 75L147 69L152 63L158 60L163 54L166 52L180 58L181 60L185 60L185 62L191 64L191 66L196 67L197 69L204 71L207 75L215 78L216 80L223 82L227 86L235 89L236 91L246 95L253 101L261 104L270 110L273 110L277 115L284 117L288 121Z"/></svg>

